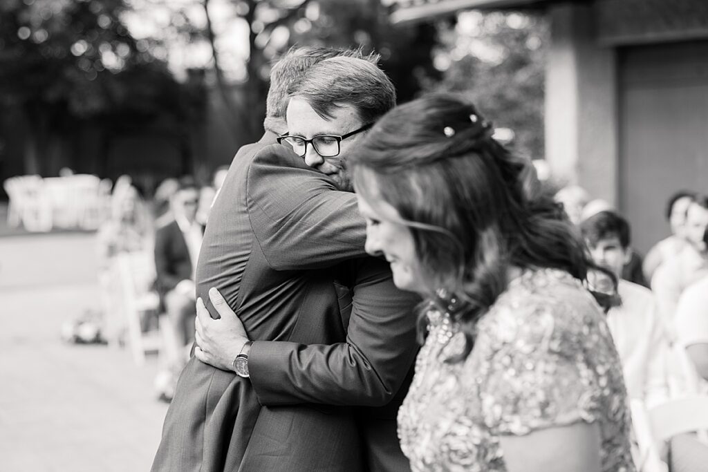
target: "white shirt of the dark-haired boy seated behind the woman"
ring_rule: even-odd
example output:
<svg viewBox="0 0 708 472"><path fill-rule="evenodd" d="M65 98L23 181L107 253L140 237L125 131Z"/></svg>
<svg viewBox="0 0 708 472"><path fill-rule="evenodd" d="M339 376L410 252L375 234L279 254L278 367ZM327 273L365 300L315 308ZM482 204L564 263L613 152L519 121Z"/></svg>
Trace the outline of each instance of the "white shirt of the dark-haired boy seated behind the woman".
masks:
<svg viewBox="0 0 708 472"><path fill-rule="evenodd" d="M620 280L621 306L607 312L607 326L622 361L629 398L648 405L668 399L668 339L649 289Z"/></svg>

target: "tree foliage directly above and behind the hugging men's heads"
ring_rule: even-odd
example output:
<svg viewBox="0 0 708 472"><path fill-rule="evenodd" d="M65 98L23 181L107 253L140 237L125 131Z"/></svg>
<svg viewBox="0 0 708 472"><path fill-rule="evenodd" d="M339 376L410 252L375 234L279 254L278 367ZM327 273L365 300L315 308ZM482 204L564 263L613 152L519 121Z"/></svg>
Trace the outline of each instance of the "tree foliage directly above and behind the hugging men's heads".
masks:
<svg viewBox="0 0 708 472"><path fill-rule="evenodd" d="M214 0L202 0L207 13ZM222 0L223 1L223 0ZM225 98L232 115L247 122L250 138L261 132L270 64L293 45L361 47L382 54L382 67L394 81L399 100L413 98L423 76L436 74L431 61L433 25L391 28L379 0L229 0L233 12L249 25L249 53L241 103ZM213 16L213 15L211 15ZM219 62L217 35L208 21L207 38L215 52L217 83L227 88ZM245 38L244 38L245 39ZM223 93L222 95L227 95Z"/></svg>

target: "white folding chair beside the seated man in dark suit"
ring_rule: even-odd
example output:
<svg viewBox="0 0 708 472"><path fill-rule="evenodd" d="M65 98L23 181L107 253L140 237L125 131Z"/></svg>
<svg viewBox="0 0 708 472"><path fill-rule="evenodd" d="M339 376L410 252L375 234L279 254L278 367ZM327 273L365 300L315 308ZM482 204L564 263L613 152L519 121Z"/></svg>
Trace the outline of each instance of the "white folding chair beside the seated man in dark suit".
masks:
<svg viewBox="0 0 708 472"><path fill-rule="evenodd" d="M114 267L120 281L118 294L127 343L135 363L142 365L145 353L159 351L162 344L159 330L144 333L142 328L145 313L159 308L159 297L150 289L155 277L154 258L149 251L120 253L115 256Z"/></svg>

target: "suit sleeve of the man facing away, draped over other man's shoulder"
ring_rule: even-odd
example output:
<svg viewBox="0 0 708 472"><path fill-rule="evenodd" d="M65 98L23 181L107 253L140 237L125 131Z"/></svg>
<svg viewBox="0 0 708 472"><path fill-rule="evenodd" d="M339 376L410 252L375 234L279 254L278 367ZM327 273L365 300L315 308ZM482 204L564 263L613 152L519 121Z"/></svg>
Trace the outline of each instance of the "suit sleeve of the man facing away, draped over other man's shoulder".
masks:
<svg viewBox="0 0 708 472"><path fill-rule="evenodd" d="M336 190L284 146L258 152L246 185L251 228L273 269L315 269L365 255L356 196Z"/></svg>

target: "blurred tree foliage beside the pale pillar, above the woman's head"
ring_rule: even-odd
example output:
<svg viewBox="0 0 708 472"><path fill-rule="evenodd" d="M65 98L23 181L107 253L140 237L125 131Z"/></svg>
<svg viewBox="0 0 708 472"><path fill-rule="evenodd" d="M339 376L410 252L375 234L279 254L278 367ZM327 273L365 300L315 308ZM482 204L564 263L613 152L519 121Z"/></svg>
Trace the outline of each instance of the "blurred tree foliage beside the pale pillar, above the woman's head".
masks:
<svg viewBox="0 0 708 472"><path fill-rule="evenodd" d="M549 28L541 16L461 13L455 25L438 24L435 65L440 81L428 91L470 98L496 127L515 133L513 146L532 159L544 156L544 64Z"/></svg>

